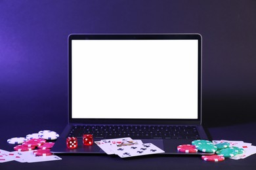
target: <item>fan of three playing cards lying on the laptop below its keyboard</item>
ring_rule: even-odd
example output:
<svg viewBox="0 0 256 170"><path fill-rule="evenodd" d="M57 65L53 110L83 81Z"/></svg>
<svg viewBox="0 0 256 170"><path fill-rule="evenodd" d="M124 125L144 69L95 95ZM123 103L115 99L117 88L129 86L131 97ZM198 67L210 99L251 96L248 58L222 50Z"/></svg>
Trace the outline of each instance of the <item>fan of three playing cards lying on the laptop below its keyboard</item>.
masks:
<svg viewBox="0 0 256 170"><path fill-rule="evenodd" d="M142 141L133 140L130 137L105 139L95 141L95 143L104 150L106 154L117 154L121 158L160 154L164 152L152 143L142 143Z"/></svg>

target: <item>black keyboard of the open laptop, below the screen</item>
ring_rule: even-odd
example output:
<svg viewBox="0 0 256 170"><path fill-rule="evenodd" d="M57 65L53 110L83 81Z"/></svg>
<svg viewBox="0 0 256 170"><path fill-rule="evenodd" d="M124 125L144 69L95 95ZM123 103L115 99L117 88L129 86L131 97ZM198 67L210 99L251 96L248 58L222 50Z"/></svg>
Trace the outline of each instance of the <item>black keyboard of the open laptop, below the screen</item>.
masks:
<svg viewBox="0 0 256 170"><path fill-rule="evenodd" d="M73 126L68 137L86 133L94 139L200 139L196 126Z"/></svg>

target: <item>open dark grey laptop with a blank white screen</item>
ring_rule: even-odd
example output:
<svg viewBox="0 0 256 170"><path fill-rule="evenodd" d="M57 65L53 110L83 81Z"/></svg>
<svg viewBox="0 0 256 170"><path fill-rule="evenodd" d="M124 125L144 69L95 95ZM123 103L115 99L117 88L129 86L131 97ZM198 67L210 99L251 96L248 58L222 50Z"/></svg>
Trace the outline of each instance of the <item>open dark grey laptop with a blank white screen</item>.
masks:
<svg viewBox="0 0 256 170"><path fill-rule="evenodd" d="M83 146L85 133L94 141L141 139L163 154L186 154L177 146L209 139L202 127L201 35L69 35L68 125L51 151L105 154L96 144ZM79 146L68 149L67 137L77 137Z"/></svg>

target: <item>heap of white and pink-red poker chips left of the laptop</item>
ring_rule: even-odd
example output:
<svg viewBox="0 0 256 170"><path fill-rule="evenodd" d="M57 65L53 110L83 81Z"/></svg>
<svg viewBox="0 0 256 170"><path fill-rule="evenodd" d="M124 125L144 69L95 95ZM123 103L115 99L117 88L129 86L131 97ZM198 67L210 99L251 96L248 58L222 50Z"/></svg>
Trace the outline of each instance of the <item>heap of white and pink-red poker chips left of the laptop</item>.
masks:
<svg viewBox="0 0 256 170"><path fill-rule="evenodd" d="M34 150L33 154L35 154L35 156L50 156L52 155L50 149L53 147L54 143L47 141L56 140L58 137L58 133L44 130L38 133L28 134L26 137L12 137L7 140L7 143L18 144L14 146L14 150L19 152Z"/></svg>

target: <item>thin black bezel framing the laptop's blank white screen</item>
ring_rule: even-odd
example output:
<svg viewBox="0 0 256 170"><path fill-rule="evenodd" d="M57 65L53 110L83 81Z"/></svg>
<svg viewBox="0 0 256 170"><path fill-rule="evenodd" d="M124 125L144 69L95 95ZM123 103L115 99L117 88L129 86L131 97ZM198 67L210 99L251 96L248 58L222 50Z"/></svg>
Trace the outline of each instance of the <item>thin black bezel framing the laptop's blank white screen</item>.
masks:
<svg viewBox="0 0 256 170"><path fill-rule="evenodd" d="M72 40L198 40L197 119L72 118ZM196 34L71 34L68 36L68 122L70 124L202 124L202 36Z"/></svg>

